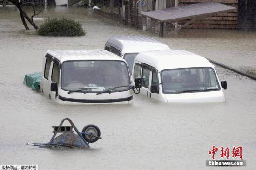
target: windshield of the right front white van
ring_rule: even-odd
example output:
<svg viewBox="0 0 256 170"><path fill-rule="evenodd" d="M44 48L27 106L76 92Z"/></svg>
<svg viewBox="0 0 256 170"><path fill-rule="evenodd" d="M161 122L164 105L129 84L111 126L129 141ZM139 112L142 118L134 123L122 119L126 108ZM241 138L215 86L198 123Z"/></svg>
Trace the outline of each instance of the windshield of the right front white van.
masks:
<svg viewBox="0 0 256 170"><path fill-rule="evenodd" d="M162 91L165 94L220 89L215 71L210 67L163 70L161 80Z"/></svg>

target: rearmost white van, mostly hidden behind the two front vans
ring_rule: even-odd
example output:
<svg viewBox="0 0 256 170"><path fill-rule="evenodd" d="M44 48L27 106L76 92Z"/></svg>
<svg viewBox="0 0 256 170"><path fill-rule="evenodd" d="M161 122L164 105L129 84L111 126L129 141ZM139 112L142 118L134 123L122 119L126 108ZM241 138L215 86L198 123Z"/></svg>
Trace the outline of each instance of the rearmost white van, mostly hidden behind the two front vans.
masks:
<svg viewBox="0 0 256 170"><path fill-rule="evenodd" d="M109 38L104 49L124 58L128 63L130 72L132 72L134 58L139 52L148 50L167 50L170 48L154 38L127 36Z"/></svg>

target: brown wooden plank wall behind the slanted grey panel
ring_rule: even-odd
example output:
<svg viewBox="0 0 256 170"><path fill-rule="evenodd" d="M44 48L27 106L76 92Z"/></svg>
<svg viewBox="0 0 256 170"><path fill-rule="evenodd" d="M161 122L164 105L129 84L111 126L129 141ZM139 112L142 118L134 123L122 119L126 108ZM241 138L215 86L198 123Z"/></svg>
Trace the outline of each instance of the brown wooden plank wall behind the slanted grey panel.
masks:
<svg viewBox="0 0 256 170"><path fill-rule="evenodd" d="M179 0L179 6L188 5L192 3L208 2L209 0ZM222 3L228 6L238 8L238 0L211 0L213 2ZM221 28L221 29L235 29L238 24L237 10L232 13L218 13L211 17L196 20L186 28ZM188 20L183 20L180 24L186 23Z"/></svg>

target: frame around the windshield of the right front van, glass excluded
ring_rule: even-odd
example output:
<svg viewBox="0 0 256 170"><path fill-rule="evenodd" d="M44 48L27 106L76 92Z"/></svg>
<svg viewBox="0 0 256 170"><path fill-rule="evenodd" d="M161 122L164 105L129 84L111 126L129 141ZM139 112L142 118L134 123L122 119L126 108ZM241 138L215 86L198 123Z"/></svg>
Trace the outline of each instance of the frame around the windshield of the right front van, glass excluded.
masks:
<svg viewBox="0 0 256 170"><path fill-rule="evenodd" d="M169 71L169 70L180 70L180 69L212 69L213 72L214 72L214 76L216 78L216 82L217 82L217 85L218 85L218 88L217 89L212 89L212 90L208 90L207 92L210 92L210 91L220 91L221 90L221 87L220 87L220 83L219 83L219 80L218 80L218 77L217 77L217 74L216 74L216 71L214 68L212 67L185 67L185 68L177 68L177 69L163 69L161 70L160 72L160 77L161 77L161 87L162 87L162 93L163 94L180 94L180 93L172 93L172 92L165 92L164 91L164 88L163 88L163 80L162 80L162 72L163 71ZM202 91L204 92L204 91ZM191 92L186 92L186 93L191 93ZM193 93L198 93L198 92L193 92Z"/></svg>

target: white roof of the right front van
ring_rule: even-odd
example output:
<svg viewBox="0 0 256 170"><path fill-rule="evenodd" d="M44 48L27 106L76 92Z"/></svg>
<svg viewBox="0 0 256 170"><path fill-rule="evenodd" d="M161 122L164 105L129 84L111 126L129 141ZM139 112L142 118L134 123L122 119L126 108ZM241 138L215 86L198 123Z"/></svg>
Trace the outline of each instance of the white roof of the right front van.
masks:
<svg viewBox="0 0 256 170"><path fill-rule="evenodd" d="M139 53L135 61L163 69L179 69L191 67L212 67L206 58L184 50L152 50Z"/></svg>

